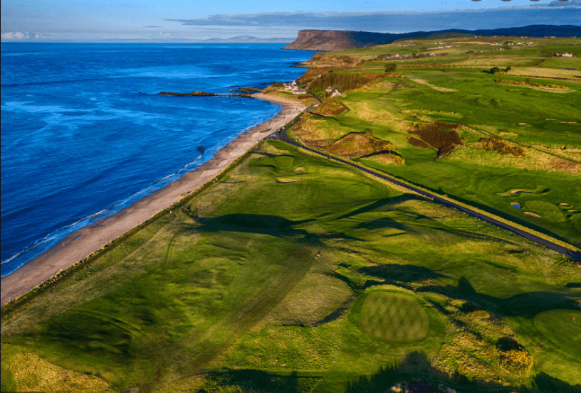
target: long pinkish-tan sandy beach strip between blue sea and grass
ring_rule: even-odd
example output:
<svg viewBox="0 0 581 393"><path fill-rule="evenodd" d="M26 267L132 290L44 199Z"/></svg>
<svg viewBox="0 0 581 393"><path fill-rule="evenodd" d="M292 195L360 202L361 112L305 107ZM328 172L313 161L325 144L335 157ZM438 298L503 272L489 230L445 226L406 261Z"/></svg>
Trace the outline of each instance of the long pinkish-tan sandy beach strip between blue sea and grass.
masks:
<svg viewBox="0 0 581 393"><path fill-rule="evenodd" d="M51 249L2 277L0 279L0 306L3 307L9 301L23 296L134 227L141 225L142 222L149 220L157 212L177 203L185 195L197 190L224 171L237 158L246 154L257 141L273 134L305 109L304 105L290 99L263 93L253 94L252 97L281 105L283 109L276 117L237 136L217 151L214 158L201 164L194 171L185 173L176 181L135 201L114 215L76 230Z"/></svg>

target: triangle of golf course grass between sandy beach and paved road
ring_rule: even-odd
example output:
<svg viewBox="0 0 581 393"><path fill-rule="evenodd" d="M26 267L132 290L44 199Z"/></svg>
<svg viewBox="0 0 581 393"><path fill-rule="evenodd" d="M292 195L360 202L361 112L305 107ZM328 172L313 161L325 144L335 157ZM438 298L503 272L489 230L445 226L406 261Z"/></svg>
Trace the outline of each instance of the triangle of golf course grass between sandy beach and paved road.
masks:
<svg viewBox="0 0 581 393"><path fill-rule="evenodd" d="M581 382L533 323L577 307L569 260L281 142L103 257L3 311L3 389L345 392L412 363L460 391ZM499 366L506 335L530 375Z"/></svg>

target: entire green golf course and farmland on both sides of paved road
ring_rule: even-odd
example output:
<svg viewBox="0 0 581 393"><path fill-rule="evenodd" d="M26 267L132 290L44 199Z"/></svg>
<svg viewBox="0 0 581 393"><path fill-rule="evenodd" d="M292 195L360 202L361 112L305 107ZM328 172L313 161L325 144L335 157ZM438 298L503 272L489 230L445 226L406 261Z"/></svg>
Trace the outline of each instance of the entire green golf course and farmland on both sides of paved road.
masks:
<svg viewBox="0 0 581 393"><path fill-rule="evenodd" d="M288 134L580 247L581 79L530 77L567 94L495 82L526 77L516 66L492 73L511 65L505 57L476 58L492 55L476 53L493 51L491 42L422 41L426 50L454 45L432 60L452 59L449 67L405 59L395 72L377 56L417 45L320 55L325 68L300 82L321 78L313 90L332 82L342 95L323 95ZM581 52L579 39L534 42L502 56L554 77L549 66L563 63L548 48ZM458 66L473 58L486 61ZM340 70L328 67L339 61ZM276 86L268 94L291 97ZM581 392L580 269L354 168L265 141L2 308L1 390Z"/></svg>

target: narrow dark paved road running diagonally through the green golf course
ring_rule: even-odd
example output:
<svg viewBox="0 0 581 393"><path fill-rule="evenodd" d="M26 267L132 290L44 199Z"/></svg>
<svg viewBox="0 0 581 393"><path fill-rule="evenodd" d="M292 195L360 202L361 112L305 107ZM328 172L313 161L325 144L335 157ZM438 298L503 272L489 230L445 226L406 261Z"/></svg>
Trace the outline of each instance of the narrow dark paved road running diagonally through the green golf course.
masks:
<svg viewBox="0 0 581 393"><path fill-rule="evenodd" d="M309 109L306 109L306 111L308 112L310 109L312 109L312 107L309 108ZM524 237L525 239L529 239L530 241L535 242L537 244L540 244L542 246L545 246L545 247L547 247L549 249L552 249L553 251L556 251L559 254L566 255L567 257L571 257L572 259L575 259L575 260L581 262L581 252L575 252L572 249L567 249L565 247L560 246L559 244L555 244L553 242L550 242L547 239L543 239L542 237L538 237L538 236L532 235L532 234L530 234L528 232L525 232L525 231L520 230L520 229L518 229L516 227L513 227L512 225L508 225L505 222L501 222L501 221L495 220L494 218L488 217L486 215L481 215L480 213L478 213L478 212L476 212L474 210L471 210L471 209L466 208L466 207L464 207L462 205L458 205L458 204L456 204L454 202L451 202L449 200L446 200L444 198L441 198L437 194L426 193L426 191L420 190L419 188L415 188L413 185L409 185L409 184L406 184L406 183L402 183L400 181L395 180L394 178L390 178L388 176L384 176L381 173L376 173L374 171L370 171L370 169L365 168L363 166L359 166L359 165L357 165L355 163L342 160L341 158L337 158L337 157L330 156L330 155L325 154L325 153L323 153L321 151L318 151L318 150L315 150L315 149L311 149L308 146L304 146L302 144L298 144L296 141L293 141L292 139L290 139L287 136L286 131L287 131L288 128L290 128L290 126L292 126L293 124L295 124L296 122L298 122L299 119L300 119L300 117L298 119L293 120L293 122L291 122L288 126L281 128L280 130L278 130L277 132L275 132L274 134L272 134L271 136L269 136L268 139L276 139L276 140L282 141L282 142L284 142L286 144L290 144L292 146L296 146L296 147L298 147L300 149L304 149L306 151L310 151L311 153L318 154L319 156L323 156L323 157L328 158L330 160L337 161L339 163L342 163L342 164L351 166L352 168L355 168L355 169L358 169L359 171L365 172L368 175L375 176L376 178L380 178L380 179L382 179L384 181L387 181L389 183L392 183L394 185L398 185L399 187L405 188L405 189L410 190L410 191L412 191L414 193L417 193L419 195L422 195L423 197L428 198L429 200L433 200L434 202L441 203L442 205L448 206L449 208L454 208L456 210L460 210L461 212L465 212L466 214L469 214L469 215L471 215L473 217L479 218L480 220L489 222L492 225L496 225L496 227L502 228L503 230L511 231L511 232L515 233L516 235L519 235L521 237Z"/></svg>

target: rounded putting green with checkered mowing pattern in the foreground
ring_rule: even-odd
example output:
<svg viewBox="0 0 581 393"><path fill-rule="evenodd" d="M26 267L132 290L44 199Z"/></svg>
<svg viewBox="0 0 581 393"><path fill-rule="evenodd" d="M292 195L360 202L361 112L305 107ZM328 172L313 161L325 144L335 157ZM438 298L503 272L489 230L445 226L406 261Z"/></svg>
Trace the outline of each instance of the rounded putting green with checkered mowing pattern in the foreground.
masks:
<svg viewBox="0 0 581 393"><path fill-rule="evenodd" d="M425 338L429 319L413 298L375 291L363 303L359 327L372 338L405 343Z"/></svg>

